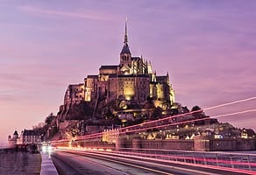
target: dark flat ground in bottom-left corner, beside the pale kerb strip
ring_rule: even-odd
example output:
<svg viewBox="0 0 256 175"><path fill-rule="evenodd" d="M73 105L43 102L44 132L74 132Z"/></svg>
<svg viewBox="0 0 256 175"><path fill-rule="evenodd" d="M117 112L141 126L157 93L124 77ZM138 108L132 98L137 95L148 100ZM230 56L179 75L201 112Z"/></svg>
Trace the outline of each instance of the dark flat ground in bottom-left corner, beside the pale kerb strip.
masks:
<svg viewBox="0 0 256 175"><path fill-rule="evenodd" d="M0 153L0 174L40 174L41 161L40 154L23 151L4 151Z"/></svg>

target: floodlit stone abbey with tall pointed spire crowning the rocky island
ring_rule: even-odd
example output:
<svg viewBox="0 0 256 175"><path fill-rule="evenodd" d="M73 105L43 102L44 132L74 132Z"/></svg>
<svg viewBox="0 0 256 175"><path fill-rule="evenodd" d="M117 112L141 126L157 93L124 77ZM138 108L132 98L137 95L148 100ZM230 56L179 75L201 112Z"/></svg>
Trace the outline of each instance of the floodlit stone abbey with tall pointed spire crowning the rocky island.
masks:
<svg viewBox="0 0 256 175"><path fill-rule="evenodd" d="M119 64L101 66L99 73L88 75L84 83L69 85L64 103L97 102L99 99L106 103L115 100L143 103L153 99L174 105L174 88L168 73L158 76L150 61L132 56L126 22Z"/></svg>

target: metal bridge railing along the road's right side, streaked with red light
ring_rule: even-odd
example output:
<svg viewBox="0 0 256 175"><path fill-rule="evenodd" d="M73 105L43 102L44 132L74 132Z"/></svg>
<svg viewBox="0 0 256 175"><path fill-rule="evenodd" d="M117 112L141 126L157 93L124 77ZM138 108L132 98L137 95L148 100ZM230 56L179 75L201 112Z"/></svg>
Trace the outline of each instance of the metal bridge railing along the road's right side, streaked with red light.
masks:
<svg viewBox="0 0 256 175"><path fill-rule="evenodd" d="M249 172L256 172L256 152L236 153L236 152L205 152L205 151L170 151L151 149L119 149L120 154L137 156L142 158L153 158L161 161L201 165L217 169L236 169Z"/></svg>

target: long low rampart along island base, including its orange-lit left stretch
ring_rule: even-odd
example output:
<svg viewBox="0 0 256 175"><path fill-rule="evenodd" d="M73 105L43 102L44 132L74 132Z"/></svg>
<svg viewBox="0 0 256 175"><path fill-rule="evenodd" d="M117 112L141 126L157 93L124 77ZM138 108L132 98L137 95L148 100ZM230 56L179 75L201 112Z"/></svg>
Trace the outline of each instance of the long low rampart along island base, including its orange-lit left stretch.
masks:
<svg viewBox="0 0 256 175"><path fill-rule="evenodd" d="M61 145L61 146L68 146ZM125 137L119 137L116 143L96 141L77 141L72 146L84 148L108 148L117 151L152 149L152 150L175 150L175 151L256 151L255 139L200 139L193 140L143 140L133 138L131 140Z"/></svg>

